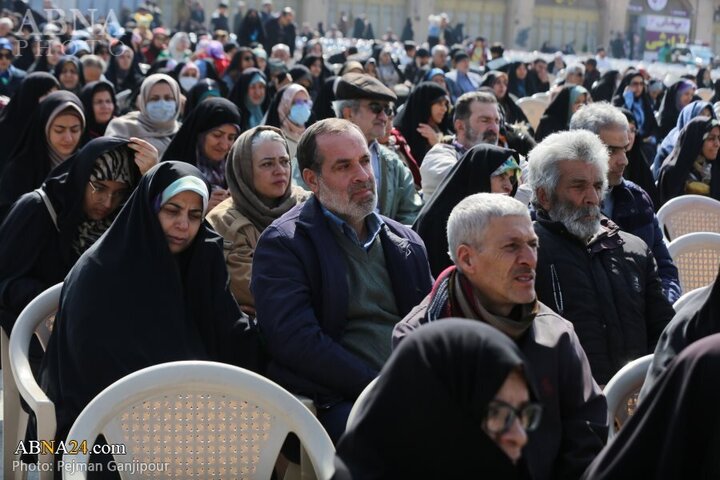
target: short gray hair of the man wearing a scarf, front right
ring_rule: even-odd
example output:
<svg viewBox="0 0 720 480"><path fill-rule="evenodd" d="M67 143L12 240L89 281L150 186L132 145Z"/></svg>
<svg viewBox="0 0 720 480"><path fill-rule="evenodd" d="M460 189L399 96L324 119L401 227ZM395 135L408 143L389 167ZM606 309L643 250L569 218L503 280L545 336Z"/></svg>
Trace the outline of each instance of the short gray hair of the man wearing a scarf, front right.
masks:
<svg viewBox="0 0 720 480"><path fill-rule="evenodd" d="M476 193L455 205L447 224L448 255L453 263L457 264L455 253L460 245L481 249L490 220L509 216L525 217L530 221L527 206L507 195Z"/></svg>

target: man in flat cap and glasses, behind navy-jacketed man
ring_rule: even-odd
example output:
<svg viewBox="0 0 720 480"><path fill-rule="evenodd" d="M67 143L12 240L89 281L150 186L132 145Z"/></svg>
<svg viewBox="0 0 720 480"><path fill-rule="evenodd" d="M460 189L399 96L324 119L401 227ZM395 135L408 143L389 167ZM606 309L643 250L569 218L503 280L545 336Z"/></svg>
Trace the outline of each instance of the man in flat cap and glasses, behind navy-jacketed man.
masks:
<svg viewBox="0 0 720 480"><path fill-rule="evenodd" d="M378 213L412 225L422 208L412 173L395 152L377 141L385 135L397 96L370 75L347 73L337 84L335 98L335 114L357 125L365 135L377 186Z"/></svg>

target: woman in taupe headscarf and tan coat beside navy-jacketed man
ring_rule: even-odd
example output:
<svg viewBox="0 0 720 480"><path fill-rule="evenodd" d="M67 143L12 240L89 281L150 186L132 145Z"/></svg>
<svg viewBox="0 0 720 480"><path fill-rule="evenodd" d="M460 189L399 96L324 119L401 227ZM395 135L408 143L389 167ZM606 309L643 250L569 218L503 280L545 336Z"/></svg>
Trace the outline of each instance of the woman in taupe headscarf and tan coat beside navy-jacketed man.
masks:
<svg viewBox="0 0 720 480"><path fill-rule="evenodd" d="M250 293L252 259L260 234L304 201L309 192L292 186L290 152L282 131L258 126L238 137L228 155L225 179L230 198L207 220L223 236L230 290L240 308L255 314Z"/></svg>

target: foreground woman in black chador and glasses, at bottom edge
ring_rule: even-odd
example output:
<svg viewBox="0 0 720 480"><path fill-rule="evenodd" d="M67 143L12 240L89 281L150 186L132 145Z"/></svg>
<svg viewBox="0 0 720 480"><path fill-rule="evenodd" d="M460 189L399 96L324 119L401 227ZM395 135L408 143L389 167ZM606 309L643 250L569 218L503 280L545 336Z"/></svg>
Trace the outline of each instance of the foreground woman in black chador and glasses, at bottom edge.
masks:
<svg viewBox="0 0 720 480"><path fill-rule="evenodd" d="M393 352L340 439L333 478L528 477L522 450L542 417L528 370L493 327L423 326Z"/></svg>

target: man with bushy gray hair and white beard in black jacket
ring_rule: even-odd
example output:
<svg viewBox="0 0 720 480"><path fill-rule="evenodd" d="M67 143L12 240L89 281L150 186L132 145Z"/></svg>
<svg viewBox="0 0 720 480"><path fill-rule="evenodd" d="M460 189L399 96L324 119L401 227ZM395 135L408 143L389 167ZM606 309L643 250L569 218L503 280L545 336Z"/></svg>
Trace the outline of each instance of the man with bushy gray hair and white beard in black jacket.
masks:
<svg viewBox="0 0 720 480"><path fill-rule="evenodd" d="M586 130L545 138L528 158L539 238L538 299L571 321L600 385L652 353L674 315L647 244L605 218L608 151Z"/></svg>

